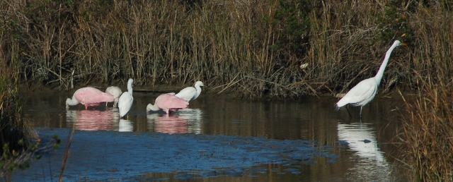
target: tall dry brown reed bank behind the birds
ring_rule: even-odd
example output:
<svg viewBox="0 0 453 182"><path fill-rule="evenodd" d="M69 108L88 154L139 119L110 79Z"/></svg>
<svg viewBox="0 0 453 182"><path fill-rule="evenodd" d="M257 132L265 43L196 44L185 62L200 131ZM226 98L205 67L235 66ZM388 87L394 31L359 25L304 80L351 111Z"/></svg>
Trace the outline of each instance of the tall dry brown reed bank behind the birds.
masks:
<svg viewBox="0 0 453 182"><path fill-rule="evenodd" d="M381 92L453 73L449 1L1 1L1 55L20 79L208 83L213 92L297 97L345 92L373 76L394 40ZM404 37L401 37L405 35ZM438 51L442 50L442 51ZM305 68L301 68L305 67ZM415 77L413 71L422 77ZM121 81L120 81L121 80Z"/></svg>

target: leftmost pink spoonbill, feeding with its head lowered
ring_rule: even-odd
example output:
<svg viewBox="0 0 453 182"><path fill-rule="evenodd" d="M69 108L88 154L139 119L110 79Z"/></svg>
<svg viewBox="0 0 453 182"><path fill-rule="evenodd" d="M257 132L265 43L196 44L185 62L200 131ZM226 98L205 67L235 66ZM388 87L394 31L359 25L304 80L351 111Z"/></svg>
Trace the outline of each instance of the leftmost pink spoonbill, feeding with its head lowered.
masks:
<svg viewBox="0 0 453 182"><path fill-rule="evenodd" d="M69 109L69 106L74 106L76 104L84 104L85 109L88 109L88 106L94 107L98 106L101 102L113 102L115 98L112 95L109 95L97 88L93 87L83 87L74 92L72 99L66 99L66 109Z"/></svg>

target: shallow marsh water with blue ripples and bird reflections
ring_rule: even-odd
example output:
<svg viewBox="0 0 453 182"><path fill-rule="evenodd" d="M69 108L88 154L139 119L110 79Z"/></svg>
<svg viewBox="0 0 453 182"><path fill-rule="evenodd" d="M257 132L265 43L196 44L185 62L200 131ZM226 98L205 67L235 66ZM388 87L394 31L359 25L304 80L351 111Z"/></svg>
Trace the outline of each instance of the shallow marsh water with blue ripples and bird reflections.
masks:
<svg viewBox="0 0 453 182"><path fill-rule="evenodd" d="M62 145L13 174L13 181L57 181L70 128L65 181L401 181L390 144L401 101L375 98L336 111L333 97L247 101L202 95L189 109L147 114L159 94L134 92L128 119L102 104L67 110L72 92L23 93L26 118L42 140Z"/></svg>

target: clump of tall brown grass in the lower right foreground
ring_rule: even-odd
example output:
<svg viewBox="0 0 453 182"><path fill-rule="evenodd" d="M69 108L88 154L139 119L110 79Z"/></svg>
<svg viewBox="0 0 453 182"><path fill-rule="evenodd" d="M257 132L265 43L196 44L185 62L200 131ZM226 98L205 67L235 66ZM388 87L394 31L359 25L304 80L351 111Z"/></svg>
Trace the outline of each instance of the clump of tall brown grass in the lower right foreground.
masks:
<svg viewBox="0 0 453 182"><path fill-rule="evenodd" d="M451 83L426 85L406 101L401 152L418 181L453 180L453 95Z"/></svg>

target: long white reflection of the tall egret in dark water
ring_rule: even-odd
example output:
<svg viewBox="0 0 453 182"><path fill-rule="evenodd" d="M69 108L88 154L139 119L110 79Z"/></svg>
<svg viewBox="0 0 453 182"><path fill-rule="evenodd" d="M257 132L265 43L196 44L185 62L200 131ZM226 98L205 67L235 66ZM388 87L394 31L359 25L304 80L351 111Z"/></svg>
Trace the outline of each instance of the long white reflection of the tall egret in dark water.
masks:
<svg viewBox="0 0 453 182"><path fill-rule="evenodd" d="M348 142L350 150L357 154L357 163L350 170L370 180L389 177L382 176L382 174L389 174L391 169L384 157L384 152L378 147L374 127L366 123L338 123L338 140ZM362 174L362 171L367 172Z"/></svg>

